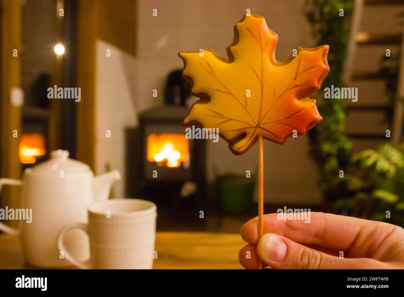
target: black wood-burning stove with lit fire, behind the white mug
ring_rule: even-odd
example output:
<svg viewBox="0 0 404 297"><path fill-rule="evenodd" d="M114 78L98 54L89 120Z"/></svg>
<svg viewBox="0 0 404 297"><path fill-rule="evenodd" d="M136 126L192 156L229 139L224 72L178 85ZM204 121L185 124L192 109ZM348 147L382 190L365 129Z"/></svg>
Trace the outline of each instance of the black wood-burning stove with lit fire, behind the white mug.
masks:
<svg viewBox="0 0 404 297"><path fill-rule="evenodd" d="M188 109L165 105L139 116L139 196L158 206L195 208L205 194L205 143L185 138Z"/></svg>

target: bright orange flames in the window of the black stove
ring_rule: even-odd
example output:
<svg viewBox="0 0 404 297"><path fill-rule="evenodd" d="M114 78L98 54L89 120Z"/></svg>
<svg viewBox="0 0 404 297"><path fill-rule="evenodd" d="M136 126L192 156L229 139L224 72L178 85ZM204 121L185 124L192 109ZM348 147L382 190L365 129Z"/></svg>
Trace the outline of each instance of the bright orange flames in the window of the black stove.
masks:
<svg viewBox="0 0 404 297"><path fill-rule="evenodd" d="M183 134L151 134L147 137L147 160L159 166L179 167L189 161L188 139Z"/></svg>

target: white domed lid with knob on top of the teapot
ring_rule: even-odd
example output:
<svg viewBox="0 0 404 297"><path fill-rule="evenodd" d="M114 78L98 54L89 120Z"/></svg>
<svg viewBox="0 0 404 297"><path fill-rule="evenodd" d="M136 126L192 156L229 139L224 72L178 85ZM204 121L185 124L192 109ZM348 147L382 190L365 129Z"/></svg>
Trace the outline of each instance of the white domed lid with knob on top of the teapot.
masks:
<svg viewBox="0 0 404 297"><path fill-rule="evenodd" d="M69 151L66 150L56 150L50 152L50 159L46 160L34 167L27 168L26 171L29 173L59 173L63 170L64 174L74 174L81 172L90 171L90 167L80 161L70 159Z"/></svg>

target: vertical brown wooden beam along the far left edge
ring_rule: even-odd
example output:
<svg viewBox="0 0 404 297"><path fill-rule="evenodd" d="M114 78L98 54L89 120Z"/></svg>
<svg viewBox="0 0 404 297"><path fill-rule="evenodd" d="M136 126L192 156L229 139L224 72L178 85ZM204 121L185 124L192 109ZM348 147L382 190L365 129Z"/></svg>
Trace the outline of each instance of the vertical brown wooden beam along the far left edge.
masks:
<svg viewBox="0 0 404 297"><path fill-rule="evenodd" d="M19 179L21 162L18 156L21 137L21 107L11 104L10 91L21 87L21 5L19 0L1 0L1 70L0 70L0 171L1 177ZM13 50L17 50L17 57ZM13 137L13 131L18 137ZM5 192L3 192L5 191ZM20 190L2 190L2 206L16 208ZM17 222L16 222L17 223ZM14 225L13 222L11 225Z"/></svg>

